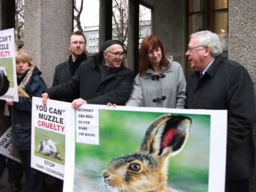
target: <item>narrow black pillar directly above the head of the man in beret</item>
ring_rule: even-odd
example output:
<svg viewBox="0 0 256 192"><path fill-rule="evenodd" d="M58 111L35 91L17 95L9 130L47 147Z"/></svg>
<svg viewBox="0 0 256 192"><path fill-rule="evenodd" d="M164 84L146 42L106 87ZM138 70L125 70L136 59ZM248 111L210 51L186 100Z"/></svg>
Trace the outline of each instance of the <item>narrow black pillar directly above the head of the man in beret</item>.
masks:
<svg viewBox="0 0 256 192"><path fill-rule="evenodd" d="M99 45L112 39L112 0L100 0Z"/></svg>

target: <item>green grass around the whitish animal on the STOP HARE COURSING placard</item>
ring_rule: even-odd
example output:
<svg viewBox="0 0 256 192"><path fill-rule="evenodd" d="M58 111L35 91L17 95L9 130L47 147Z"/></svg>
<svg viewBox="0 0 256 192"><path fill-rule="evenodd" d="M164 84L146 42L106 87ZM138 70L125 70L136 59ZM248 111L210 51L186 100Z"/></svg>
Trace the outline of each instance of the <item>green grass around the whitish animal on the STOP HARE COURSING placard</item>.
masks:
<svg viewBox="0 0 256 192"><path fill-rule="evenodd" d="M61 158L65 159L65 135L58 134L57 132L53 131L47 131L38 127L35 127L35 155L43 159L47 159L55 163L64 165L65 161L55 159L51 156L43 155L41 154L41 152L38 151L38 145L42 140L45 140L46 136L48 136L55 143L58 152L60 152Z"/></svg>

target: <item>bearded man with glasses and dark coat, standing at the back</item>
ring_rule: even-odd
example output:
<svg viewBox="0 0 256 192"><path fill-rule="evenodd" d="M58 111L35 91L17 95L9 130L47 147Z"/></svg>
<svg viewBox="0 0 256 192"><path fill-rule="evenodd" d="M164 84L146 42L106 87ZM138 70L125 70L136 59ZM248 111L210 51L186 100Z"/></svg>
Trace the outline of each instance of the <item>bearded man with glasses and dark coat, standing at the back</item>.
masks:
<svg viewBox="0 0 256 192"><path fill-rule="evenodd" d="M80 63L87 60L85 47L85 35L80 31L73 32L70 36L70 44L68 45L68 50L70 50L71 56L68 57L67 61L56 66L52 86L67 83L71 77L75 75ZM72 100L62 99L62 101L71 102Z"/></svg>

